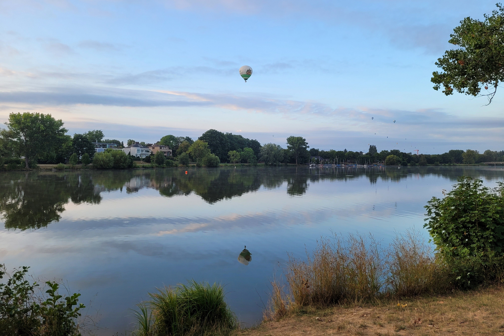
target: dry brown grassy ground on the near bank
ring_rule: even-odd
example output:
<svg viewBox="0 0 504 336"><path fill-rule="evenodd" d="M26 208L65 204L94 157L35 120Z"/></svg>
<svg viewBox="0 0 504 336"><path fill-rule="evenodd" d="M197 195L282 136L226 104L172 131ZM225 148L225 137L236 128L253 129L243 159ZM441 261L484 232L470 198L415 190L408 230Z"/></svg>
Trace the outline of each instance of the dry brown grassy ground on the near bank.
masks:
<svg viewBox="0 0 504 336"><path fill-rule="evenodd" d="M308 308L236 335L504 335L504 288L360 307Z"/></svg>

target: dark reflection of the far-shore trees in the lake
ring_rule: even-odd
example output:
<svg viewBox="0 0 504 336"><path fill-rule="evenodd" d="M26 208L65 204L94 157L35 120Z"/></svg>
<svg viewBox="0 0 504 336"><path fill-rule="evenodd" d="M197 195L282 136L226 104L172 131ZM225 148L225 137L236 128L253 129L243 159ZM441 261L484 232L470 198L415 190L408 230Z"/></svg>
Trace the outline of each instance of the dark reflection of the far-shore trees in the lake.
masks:
<svg viewBox="0 0 504 336"><path fill-rule="evenodd" d="M371 184L438 175L452 179L473 176L499 179L501 171L484 167L242 167L185 169L1 172L0 216L7 229L39 229L59 221L65 205L99 204L103 192L123 190L135 193L143 188L159 190L163 196L195 193L209 204L255 192L261 187L276 189L286 184L291 196L306 193L309 183L347 181L365 177Z"/></svg>

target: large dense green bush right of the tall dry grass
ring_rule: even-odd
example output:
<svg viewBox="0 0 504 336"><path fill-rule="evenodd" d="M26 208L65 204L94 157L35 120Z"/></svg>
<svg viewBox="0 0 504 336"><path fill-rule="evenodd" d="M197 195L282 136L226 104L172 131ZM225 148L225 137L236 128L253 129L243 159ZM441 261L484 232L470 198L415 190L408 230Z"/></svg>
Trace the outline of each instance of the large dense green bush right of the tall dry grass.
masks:
<svg viewBox="0 0 504 336"><path fill-rule="evenodd" d="M462 176L454 189L428 201L426 227L436 250L464 287L502 277L504 270L504 185L483 186Z"/></svg>

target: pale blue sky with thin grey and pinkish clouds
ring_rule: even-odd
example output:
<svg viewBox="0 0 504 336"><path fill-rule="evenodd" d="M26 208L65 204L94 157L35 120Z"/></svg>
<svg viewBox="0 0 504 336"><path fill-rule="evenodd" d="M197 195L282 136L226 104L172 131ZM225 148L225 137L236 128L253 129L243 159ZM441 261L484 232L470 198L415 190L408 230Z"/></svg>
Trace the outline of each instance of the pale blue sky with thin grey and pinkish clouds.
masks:
<svg viewBox="0 0 504 336"><path fill-rule="evenodd" d="M102 129L124 142L214 128L283 147L294 135L324 150L503 150L504 93L484 106L430 82L460 20L494 9L495 0L0 0L0 122L49 113L71 135ZM253 69L246 83L241 65Z"/></svg>

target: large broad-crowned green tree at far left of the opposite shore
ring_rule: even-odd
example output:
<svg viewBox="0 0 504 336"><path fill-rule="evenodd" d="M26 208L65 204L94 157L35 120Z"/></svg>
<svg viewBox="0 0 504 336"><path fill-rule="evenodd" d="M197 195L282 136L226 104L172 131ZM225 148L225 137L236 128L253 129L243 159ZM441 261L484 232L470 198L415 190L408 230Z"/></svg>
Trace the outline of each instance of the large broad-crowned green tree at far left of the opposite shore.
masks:
<svg viewBox="0 0 504 336"><path fill-rule="evenodd" d="M52 150L67 132L63 121L54 119L50 114L11 113L5 124L8 132L3 135L13 142L18 157L25 157L26 168L30 161L36 161L40 155Z"/></svg>

